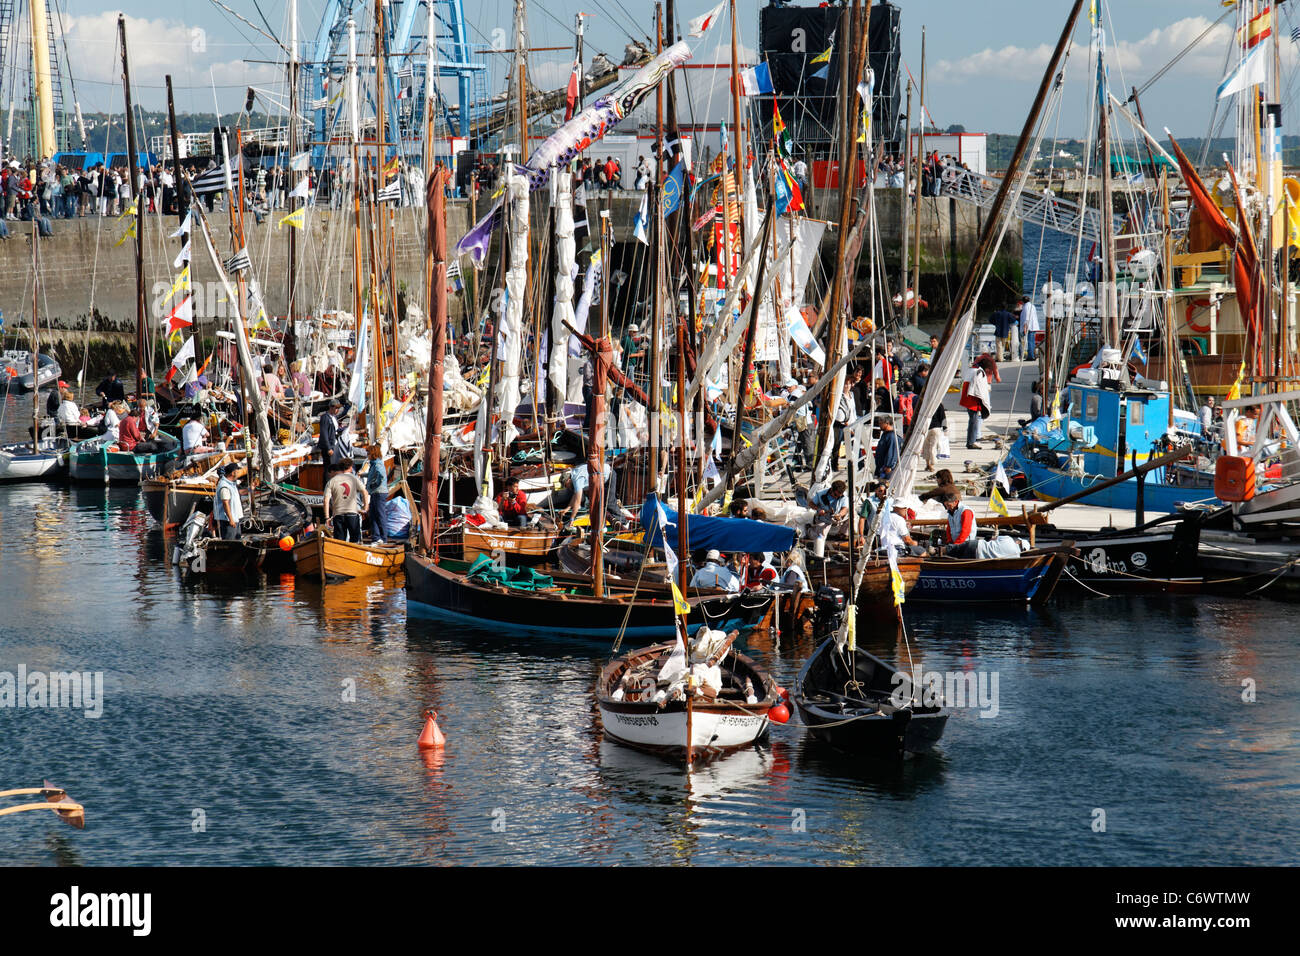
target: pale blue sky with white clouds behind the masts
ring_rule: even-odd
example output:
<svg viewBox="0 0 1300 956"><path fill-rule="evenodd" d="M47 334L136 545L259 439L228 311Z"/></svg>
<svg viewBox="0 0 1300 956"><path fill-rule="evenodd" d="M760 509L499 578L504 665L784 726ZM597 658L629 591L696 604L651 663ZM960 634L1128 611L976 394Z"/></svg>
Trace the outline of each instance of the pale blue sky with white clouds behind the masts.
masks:
<svg viewBox="0 0 1300 956"><path fill-rule="evenodd" d="M716 0L681 0L679 16L706 12ZM84 109L121 108L116 87L116 10L104 12L96 0L65 0L68 44L74 64L78 95ZM286 0L225 0L263 31L287 36ZM341 0L344 5L348 0ZM1014 133L1019 130L1044 64L1069 12L1067 0L902 0L904 60L919 79L920 30L927 27L927 99L940 126L962 124L968 130ZM260 10L259 10L260 7ZM328 4L300 0L300 35L313 38ZM757 46L758 4L741 0L744 46ZM1292 12L1292 7L1297 9ZM467 18L473 42L510 47L512 0L467 0ZM592 13L588 49L604 51L621 60L623 46L632 36L653 30L649 0L533 0L529 8L529 43L533 47L569 46L573 14ZM222 111L242 104L244 87L273 87L282 75L269 62L278 51L257 29L239 22L212 0L131 0L124 7L131 44L131 73L138 99L160 108L162 75L170 72L177 83L181 111L211 111L213 86ZM1105 7L1112 30L1112 85L1127 90L1141 86L1188 43L1218 20L1219 0L1113 0ZM1288 86L1294 85L1296 46L1292 26L1300 25L1300 4L1282 8L1283 52ZM265 18L263 17L265 13ZM1235 14L1234 14L1235 16ZM269 22L269 26L268 26ZM1179 135L1202 135L1213 103L1214 87L1223 75L1223 57L1231 36L1232 17L1214 27L1201 44L1174 66L1143 96L1143 108L1153 126L1169 126ZM1082 135L1086 126L1088 25L1084 16L1075 33L1076 47L1069 70L1069 86L1060 118L1061 135ZM697 61L725 59L729 34L724 21L714 27ZM489 53L494 86L507 66L502 53ZM538 52L532 57L534 77L563 83L568 70L563 52ZM1300 130L1286 117L1292 130Z"/></svg>

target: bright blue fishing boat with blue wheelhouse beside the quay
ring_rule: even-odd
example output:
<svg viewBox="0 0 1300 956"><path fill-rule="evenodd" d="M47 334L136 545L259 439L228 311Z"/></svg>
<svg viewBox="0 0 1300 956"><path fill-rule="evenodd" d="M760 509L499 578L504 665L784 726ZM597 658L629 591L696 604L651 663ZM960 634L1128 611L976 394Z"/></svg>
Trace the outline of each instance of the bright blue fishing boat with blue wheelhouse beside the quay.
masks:
<svg viewBox="0 0 1300 956"><path fill-rule="evenodd" d="M1217 446L1204 442L1200 423L1176 408L1170 427L1170 394L1143 385L1097 380L1083 369L1062 389L1061 419L1040 418L1020 429L1008 450L1008 471L1024 473L1028 490L1043 501L1087 492L1144 464L1175 445L1196 442L1204 458ZM1088 494L1086 503L1123 511L1173 514L1182 505L1219 505L1213 471L1179 462L1153 468ZM1139 497L1140 496L1140 497Z"/></svg>

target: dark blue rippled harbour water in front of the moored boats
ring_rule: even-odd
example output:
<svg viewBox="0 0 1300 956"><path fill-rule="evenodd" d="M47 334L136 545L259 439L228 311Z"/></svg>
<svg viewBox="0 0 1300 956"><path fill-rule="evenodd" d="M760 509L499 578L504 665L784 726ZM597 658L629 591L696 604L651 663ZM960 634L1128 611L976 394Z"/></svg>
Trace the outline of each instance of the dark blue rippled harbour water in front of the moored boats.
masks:
<svg viewBox="0 0 1300 956"><path fill-rule="evenodd" d="M87 808L79 832L0 818L0 860L1295 861L1294 605L909 609L926 670L997 672L996 718L956 713L940 752L902 766L837 757L792 722L688 780L602 741L607 646L408 620L382 585L185 585L164 549L134 489L0 488L0 671L104 674L98 719L0 708L0 788L48 778ZM784 684L810 650L750 649ZM416 749L430 705L448 737L433 758Z"/></svg>

